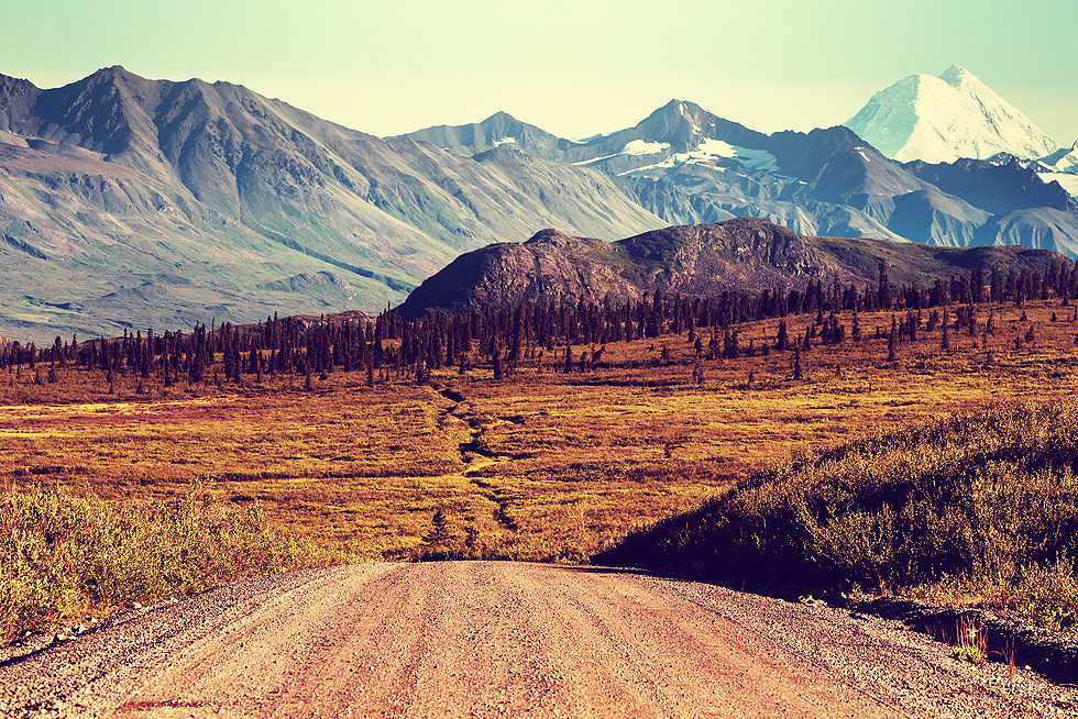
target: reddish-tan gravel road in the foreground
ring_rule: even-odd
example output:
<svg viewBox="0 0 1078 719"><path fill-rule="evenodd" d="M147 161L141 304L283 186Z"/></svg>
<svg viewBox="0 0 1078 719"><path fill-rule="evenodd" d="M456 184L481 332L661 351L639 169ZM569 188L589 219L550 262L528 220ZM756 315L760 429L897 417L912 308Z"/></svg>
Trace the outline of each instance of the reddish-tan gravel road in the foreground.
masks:
<svg viewBox="0 0 1078 719"><path fill-rule="evenodd" d="M601 567L221 587L0 663L3 717L1056 717L1078 690L894 621Z"/></svg>

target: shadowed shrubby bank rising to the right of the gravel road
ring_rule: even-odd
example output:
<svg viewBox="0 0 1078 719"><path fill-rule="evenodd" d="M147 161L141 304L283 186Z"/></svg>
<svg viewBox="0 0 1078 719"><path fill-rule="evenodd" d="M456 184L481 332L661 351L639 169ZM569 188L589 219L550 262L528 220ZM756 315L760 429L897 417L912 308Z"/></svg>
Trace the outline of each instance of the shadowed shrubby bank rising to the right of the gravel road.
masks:
<svg viewBox="0 0 1078 719"><path fill-rule="evenodd" d="M1059 628L1078 618L1076 465L1078 403L1000 405L804 453L603 558L957 594Z"/></svg>

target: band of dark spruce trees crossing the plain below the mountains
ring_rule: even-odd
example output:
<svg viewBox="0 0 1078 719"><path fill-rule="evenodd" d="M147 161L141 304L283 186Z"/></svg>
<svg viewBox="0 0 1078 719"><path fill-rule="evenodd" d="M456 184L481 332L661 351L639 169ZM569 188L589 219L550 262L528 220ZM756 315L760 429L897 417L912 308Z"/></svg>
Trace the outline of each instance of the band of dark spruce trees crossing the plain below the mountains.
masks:
<svg viewBox="0 0 1078 719"><path fill-rule="evenodd" d="M116 375L136 376L166 387L178 380L242 384L245 378L261 381L265 375L280 374L309 380L312 375L324 378L332 372L356 370L365 370L367 384L373 385L404 373L424 380L430 372L447 366L464 373L476 363L493 366L495 378L501 378L516 372L525 360L538 360L541 366L546 358L548 366L569 372L602 362L602 347L608 343L668 334L688 333L697 355L706 350L708 356L736 357L743 351L736 325L815 313L816 321L804 338L790 338L785 322L780 322L774 341L761 347L765 352L800 352L814 342L845 341L846 328L837 313L854 313L850 335L859 341L864 332L859 312L904 310L901 321L892 319L893 355L897 342L916 339L920 320L913 313L922 309L944 308L946 329L950 306L958 306L954 327L972 328L976 307L981 303L1021 307L1031 299L1058 299L1066 306L1076 298L1078 263L1069 266L1067 261L1050 264L1044 276L1027 270L1004 275L993 268L986 277L981 268L974 268L968 277L956 274L931 287L894 285L887 265L880 263L878 281L860 287L817 279L801 288L726 291L717 297L656 291L624 303L608 296L601 302L520 301L459 313L436 311L411 321L387 308L373 320L349 316L280 319L274 314L256 324L226 322L210 329L199 324L190 332L124 331L121 338L86 342L57 336L45 347L19 342L4 346L0 366L36 370L47 365L50 373L69 366L105 373L110 381ZM938 312L933 312L928 330L938 321ZM880 336L880 328L876 332ZM573 352L578 346L585 347L580 355ZM560 347L557 355L556 347Z"/></svg>

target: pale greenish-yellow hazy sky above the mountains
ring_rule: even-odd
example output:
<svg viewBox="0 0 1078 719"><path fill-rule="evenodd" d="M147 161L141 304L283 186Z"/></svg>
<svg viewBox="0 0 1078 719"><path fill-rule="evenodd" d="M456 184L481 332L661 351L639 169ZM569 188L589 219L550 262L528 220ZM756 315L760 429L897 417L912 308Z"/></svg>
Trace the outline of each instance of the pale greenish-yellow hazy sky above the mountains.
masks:
<svg viewBox="0 0 1078 719"><path fill-rule="evenodd" d="M0 13L0 74L58 87L123 65L244 85L376 135L505 110L584 137L672 98L755 130L850 118L964 65L1078 139L1078 1L38 0Z"/></svg>

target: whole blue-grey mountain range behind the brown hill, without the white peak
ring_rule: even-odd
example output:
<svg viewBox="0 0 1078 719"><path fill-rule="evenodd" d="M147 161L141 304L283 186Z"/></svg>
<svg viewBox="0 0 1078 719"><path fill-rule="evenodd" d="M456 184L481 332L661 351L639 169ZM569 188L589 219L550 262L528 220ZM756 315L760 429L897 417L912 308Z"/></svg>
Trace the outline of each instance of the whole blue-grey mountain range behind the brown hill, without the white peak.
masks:
<svg viewBox="0 0 1078 719"><path fill-rule="evenodd" d="M1078 204L1043 179L1078 178L1072 151L902 163L849 128L768 135L679 100L586 142L504 112L378 139L228 82L0 76L0 334L377 311L544 226L614 240L761 217L1076 257Z"/></svg>

